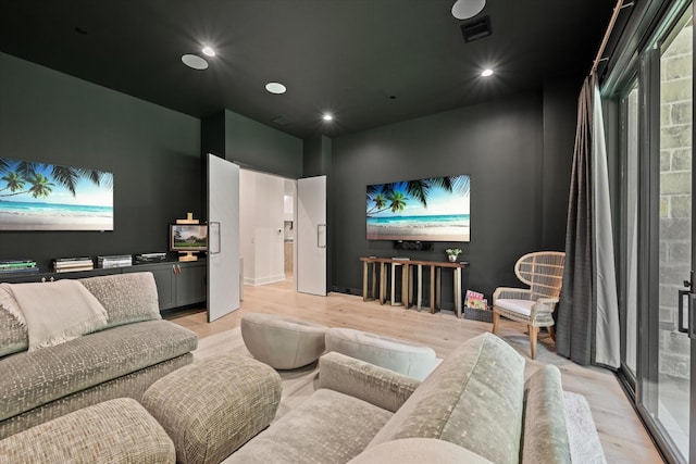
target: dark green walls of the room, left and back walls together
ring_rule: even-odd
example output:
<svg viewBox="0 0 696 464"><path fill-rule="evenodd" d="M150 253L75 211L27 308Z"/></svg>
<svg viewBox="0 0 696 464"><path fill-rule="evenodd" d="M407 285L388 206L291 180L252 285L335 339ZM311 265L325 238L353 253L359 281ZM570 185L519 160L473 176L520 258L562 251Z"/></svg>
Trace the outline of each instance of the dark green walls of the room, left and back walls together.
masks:
<svg viewBox="0 0 696 464"><path fill-rule="evenodd" d="M0 259L47 266L58 256L166 250L170 222L186 212L204 220L201 149L288 178L328 173L330 283L339 291L361 287L362 255L442 260L455 244L403 252L368 241L369 184L470 174L465 278L488 297L498 285L517 285L512 265L521 254L562 249L579 91L572 81L303 141L231 111L201 129L197 118L2 53L0 70L0 155L113 172L115 185L114 231L0 231Z"/></svg>

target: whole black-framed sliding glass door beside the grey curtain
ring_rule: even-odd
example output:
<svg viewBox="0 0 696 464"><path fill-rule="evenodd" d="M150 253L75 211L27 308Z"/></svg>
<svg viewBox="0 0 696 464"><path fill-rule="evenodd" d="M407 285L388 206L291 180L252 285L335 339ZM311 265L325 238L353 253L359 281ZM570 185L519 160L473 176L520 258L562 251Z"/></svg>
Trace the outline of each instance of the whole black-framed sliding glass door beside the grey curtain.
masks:
<svg viewBox="0 0 696 464"><path fill-rule="evenodd" d="M619 98L621 371L670 462L696 462L692 29L674 2Z"/></svg>

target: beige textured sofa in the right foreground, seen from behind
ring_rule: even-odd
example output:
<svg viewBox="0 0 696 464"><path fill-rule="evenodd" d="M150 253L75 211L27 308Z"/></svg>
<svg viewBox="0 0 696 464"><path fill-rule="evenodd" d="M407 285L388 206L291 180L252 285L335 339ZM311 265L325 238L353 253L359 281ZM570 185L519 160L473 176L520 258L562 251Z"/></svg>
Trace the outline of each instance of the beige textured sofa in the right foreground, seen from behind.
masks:
<svg viewBox="0 0 696 464"><path fill-rule="evenodd" d="M524 367L492 334L422 383L330 352L319 389L225 463L397 463L422 448L439 462L570 463L560 373L543 366L525 380Z"/></svg>

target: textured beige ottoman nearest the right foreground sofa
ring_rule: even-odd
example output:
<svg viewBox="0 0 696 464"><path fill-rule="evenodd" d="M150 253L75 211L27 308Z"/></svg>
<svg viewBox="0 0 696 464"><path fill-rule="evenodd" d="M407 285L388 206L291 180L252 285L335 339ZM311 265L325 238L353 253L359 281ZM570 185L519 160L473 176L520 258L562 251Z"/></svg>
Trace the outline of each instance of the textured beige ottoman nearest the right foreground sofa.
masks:
<svg viewBox="0 0 696 464"><path fill-rule="evenodd" d="M174 441L178 463L219 463L271 424L281 393L271 367L225 354L162 377L141 403Z"/></svg>

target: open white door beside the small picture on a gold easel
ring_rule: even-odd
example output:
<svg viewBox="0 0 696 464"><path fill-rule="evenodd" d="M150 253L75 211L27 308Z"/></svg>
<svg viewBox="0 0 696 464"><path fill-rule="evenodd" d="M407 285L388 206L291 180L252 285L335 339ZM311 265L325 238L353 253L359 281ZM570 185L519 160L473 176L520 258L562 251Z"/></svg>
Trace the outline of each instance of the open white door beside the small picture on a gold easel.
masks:
<svg viewBox="0 0 696 464"><path fill-rule="evenodd" d="M208 154L208 322L239 309L239 166Z"/></svg>

